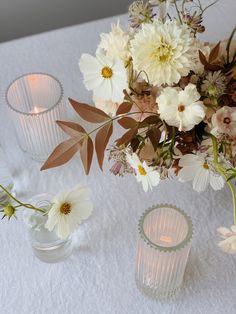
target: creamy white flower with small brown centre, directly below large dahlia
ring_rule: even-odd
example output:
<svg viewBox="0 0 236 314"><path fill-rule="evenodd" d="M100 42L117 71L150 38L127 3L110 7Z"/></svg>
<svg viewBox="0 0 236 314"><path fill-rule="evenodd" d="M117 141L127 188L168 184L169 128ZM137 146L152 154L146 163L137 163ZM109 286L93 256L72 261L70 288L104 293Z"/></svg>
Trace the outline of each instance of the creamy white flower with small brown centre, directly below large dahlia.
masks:
<svg viewBox="0 0 236 314"><path fill-rule="evenodd" d="M189 131L205 117L205 107L194 84L184 90L166 87L157 98L158 112L169 125Z"/></svg>

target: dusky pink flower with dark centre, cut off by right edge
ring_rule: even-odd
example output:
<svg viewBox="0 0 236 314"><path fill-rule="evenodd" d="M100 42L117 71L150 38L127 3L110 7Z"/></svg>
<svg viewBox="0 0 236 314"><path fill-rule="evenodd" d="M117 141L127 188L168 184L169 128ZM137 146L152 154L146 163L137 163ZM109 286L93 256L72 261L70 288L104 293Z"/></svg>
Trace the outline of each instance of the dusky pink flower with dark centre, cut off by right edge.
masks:
<svg viewBox="0 0 236 314"><path fill-rule="evenodd" d="M219 133L236 135L236 108L224 106L212 116L212 126Z"/></svg>

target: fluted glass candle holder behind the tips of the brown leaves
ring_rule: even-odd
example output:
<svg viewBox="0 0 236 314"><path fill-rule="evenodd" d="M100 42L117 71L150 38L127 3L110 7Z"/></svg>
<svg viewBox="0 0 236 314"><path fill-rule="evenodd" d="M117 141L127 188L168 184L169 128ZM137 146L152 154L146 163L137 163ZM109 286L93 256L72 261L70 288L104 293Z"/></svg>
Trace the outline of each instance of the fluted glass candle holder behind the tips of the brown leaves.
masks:
<svg viewBox="0 0 236 314"><path fill-rule="evenodd" d="M22 150L47 159L64 138L55 123L65 118L62 84L49 74L26 74L10 84L6 101Z"/></svg>

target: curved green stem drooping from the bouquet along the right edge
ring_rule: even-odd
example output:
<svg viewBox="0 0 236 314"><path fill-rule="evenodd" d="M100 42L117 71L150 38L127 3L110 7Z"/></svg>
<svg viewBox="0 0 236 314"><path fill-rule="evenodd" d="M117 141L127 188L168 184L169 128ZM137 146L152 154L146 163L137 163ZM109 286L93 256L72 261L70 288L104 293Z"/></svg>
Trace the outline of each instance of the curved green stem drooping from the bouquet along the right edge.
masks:
<svg viewBox="0 0 236 314"><path fill-rule="evenodd" d="M234 209L234 224L236 225L236 193L235 189L233 187L233 184L228 180L227 175L225 174L225 168L219 163L218 161L218 144L215 136L211 135L211 140L213 144L213 156L214 156L214 164L216 167L216 170L219 172L219 174L225 179L226 183L228 184L232 199L233 199L233 209Z"/></svg>

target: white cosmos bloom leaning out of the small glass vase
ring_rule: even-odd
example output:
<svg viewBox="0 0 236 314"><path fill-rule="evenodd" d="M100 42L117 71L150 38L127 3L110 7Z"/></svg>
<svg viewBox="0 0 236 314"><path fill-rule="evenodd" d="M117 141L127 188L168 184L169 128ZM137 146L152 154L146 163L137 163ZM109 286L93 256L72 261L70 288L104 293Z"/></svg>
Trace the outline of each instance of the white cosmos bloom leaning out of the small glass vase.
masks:
<svg viewBox="0 0 236 314"><path fill-rule="evenodd" d="M67 238L92 212L90 191L87 187L76 187L58 194L52 201L45 227L55 231L59 238Z"/></svg>

